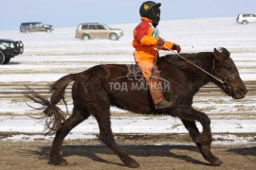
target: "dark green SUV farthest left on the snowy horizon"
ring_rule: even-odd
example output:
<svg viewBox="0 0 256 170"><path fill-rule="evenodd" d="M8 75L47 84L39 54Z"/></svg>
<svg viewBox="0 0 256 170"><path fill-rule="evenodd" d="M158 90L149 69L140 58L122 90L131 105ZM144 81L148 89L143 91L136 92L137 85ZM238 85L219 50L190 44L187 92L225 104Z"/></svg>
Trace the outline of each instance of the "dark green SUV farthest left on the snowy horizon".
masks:
<svg viewBox="0 0 256 170"><path fill-rule="evenodd" d="M35 31L51 32L53 29L53 26L45 25L41 22L22 23L20 26L20 31L26 33Z"/></svg>

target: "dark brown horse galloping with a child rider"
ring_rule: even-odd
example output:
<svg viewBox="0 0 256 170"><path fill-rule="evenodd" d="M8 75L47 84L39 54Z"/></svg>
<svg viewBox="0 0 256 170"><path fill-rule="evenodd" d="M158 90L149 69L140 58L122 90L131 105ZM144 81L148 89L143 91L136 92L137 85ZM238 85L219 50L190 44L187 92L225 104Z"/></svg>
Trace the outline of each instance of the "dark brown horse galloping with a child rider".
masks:
<svg viewBox="0 0 256 170"><path fill-rule="evenodd" d="M114 140L110 126L110 106L116 106L137 113L179 117L203 157L210 161L211 165L220 165L222 161L210 151L212 140L210 118L206 113L192 108L193 95L209 82L215 83L234 99L245 97L247 88L233 60L229 57L229 51L225 48L219 50L214 48L213 53L202 52L182 56L209 74L177 55L159 58L157 65L162 83L157 90L163 91L167 100L176 101L176 108L173 110L154 109L147 83L144 82L137 65L97 65L81 73L64 76L52 85L50 101L27 88L27 97L43 105L41 109L47 117L51 117L46 127L56 132L50 150L50 161L54 165L67 164L61 156L64 137L73 127L93 115L98 121L102 142L111 148L125 165L138 167L137 161L120 149ZM72 87L74 108L71 116L65 120L65 113L56 104L64 99L65 88L71 81L74 81ZM201 123L202 132L199 132L195 121Z"/></svg>

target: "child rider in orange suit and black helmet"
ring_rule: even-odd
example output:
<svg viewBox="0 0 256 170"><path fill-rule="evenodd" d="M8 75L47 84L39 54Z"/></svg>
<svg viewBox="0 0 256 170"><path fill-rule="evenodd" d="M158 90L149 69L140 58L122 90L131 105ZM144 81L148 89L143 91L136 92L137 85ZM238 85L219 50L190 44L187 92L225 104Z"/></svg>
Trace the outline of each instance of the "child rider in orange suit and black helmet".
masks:
<svg viewBox="0 0 256 170"><path fill-rule="evenodd" d="M134 30L133 46L135 47L134 57L142 71L143 76L148 82L149 90L155 105L155 110L173 109L174 101L164 99L163 93L155 89L159 87L159 71L155 65L158 58L158 51L167 50L165 47L176 50L178 53L181 48L174 42L165 42L159 37L156 28L160 21L160 3L146 1L139 8L141 23Z"/></svg>

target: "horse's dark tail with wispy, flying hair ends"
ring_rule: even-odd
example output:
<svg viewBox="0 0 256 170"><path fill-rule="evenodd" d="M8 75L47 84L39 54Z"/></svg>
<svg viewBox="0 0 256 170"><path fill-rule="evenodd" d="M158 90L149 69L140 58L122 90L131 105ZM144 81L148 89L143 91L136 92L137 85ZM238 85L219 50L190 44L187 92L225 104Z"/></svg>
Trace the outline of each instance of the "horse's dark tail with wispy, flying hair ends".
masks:
<svg viewBox="0 0 256 170"><path fill-rule="evenodd" d="M41 105L40 108L34 108L28 105L29 107L35 110L43 110L46 114L42 118L46 117L46 134L56 132L60 127L62 127L62 123L65 120L68 111L64 112L56 105L63 99L64 105L66 107L66 102L64 100L64 91L67 85L71 82L76 80L78 74L70 74L67 76L61 77L57 80L53 85L51 85L51 97L50 101L43 95L36 93L34 90L30 89L26 86L27 91L24 93L25 96L35 103Z"/></svg>

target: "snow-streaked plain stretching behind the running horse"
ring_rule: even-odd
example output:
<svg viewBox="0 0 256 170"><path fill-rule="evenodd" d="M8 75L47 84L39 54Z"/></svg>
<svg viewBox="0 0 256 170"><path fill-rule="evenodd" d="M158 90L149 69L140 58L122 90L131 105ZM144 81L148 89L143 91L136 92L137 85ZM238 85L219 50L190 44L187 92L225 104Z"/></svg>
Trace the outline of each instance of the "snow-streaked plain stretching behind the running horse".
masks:
<svg viewBox="0 0 256 170"><path fill-rule="evenodd" d="M44 121L27 115L39 115L27 107L21 94L23 84L46 92L46 85L61 76L80 72L101 63L134 63L132 47L133 29L137 24L117 25L124 36L117 42L75 39L76 27L55 28L48 34L24 34L17 31L0 31L0 38L21 40L25 44L23 55L11 59L8 65L0 65L0 132L24 132L38 134L44 129ZM193 107L210 115L215 144L256 144L256 25L238 25L235 18L210 18L180 21L163 21L158 26L160 36L177 42L182 53L212 51L214 47L226 47L235 61L240 75L248 84L246 98L233 100L229 96L199 93ZM161 55L169 52L161 52ZM43 90L42 90L43 88ZM215 95L217 94L217 95ZM72 101L68 99L68 110ZM63 106L62 106L63 107ZM143 116L111 109L112 127L116 133L187 133L182 123L169 116ZM197 124L199 126L199 124ZM200 126L199 126L200 127ZM90 117L72 130L67 139L95 138L98 125ZM217 134L223 133L223 134ZM255 133L243 138L226 133ZM43 135L13 135L5 140L33 140ZM47 139L52 138L47 137Z"/></svg>

